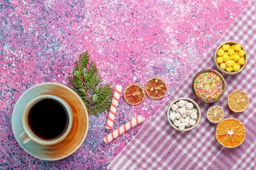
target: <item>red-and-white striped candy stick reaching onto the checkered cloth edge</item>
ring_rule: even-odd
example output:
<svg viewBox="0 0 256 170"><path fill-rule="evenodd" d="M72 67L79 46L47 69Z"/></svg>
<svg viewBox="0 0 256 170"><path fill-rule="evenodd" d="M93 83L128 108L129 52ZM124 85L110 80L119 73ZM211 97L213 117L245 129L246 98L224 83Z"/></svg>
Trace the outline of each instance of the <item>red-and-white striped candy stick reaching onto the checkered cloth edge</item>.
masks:
<svg viewBox="0 0 256 170"><path fill-rule="evenodd" d="M130 120L129 122L127 122L123 126L120 126L116 130L114 130L113 132L108 134L106 137L103 138L103 141L105 141L106 144L108 144L110 141L117 138L119 135L123 134L125 131L127 131L130 128L136 126L137 124L140 124L142 121L143 121L143 117L141 115L139 115L135 119Z"/></svg>

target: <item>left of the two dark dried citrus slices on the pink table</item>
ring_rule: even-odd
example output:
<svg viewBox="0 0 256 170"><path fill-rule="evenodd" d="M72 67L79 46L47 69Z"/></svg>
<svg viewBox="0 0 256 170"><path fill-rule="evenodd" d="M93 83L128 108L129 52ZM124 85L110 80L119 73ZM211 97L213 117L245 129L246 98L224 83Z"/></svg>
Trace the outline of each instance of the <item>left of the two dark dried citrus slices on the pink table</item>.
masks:
<svg viewBox="0 0 256 170"><path fill-rule="evenodd" d="M124 99L128 104L140 104L144 97L144 90L139 84L130 84L124 89Z"/></svg>

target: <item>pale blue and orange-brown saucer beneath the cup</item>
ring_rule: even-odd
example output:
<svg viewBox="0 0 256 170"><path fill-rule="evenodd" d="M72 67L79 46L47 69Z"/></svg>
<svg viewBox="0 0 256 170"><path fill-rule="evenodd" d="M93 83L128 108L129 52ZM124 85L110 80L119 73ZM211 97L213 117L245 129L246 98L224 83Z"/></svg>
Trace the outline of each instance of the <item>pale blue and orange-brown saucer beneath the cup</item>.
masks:
<svg viewBox="0 0 256 170"><path fill-rule="evenodd" d="M61 97L72 108L72 128L65 139L54 145L40 145L32 140L23 144L19 138L24 131L22 112L31 99L40 95ZM26 152L38 159L54 161L71 155L83 144L89 128L89 116L83 100L71 88L58 83L43 83L29 88L20 96L13 108L11 125L18 144Z"/></svg>

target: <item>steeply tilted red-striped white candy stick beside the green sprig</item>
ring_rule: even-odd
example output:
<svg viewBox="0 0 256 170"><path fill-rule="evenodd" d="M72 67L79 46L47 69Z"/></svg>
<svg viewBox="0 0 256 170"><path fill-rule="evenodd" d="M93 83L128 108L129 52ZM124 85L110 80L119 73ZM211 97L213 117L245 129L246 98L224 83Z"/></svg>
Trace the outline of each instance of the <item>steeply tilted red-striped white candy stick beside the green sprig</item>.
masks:
<svg viewBox="0 0 256 170"><path fill-rule="evenodd" d="M122 86L117 85L114 91L114 95L112 98L112 103L110 106L110 110L108 113L108 120L107 120L107 124L106 124L106 129L112 129L113 128L113 124L114 124L114 120L115 120L115 115L117 112L117 106L118 106L118 102L119 102L119 98L121 95L121 91L122 91Z"/></svg>

